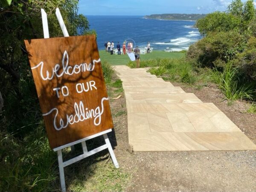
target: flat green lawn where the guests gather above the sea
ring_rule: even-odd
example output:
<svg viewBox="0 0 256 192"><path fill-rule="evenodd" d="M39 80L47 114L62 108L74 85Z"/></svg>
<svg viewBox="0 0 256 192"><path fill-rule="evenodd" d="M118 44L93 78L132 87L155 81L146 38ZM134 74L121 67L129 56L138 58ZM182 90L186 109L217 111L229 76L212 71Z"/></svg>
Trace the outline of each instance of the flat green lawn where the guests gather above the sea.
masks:
<svg viewBox="0 0 256 192"><path fill-rule="evenodd" d="M108 61L111 65L126 65L130 61L128 55L110 55L105 50L100 50L99 55L101 61ZM145 61L148 59L155 58L181 58L185 55L183 52L164 52L164 51L153 51L149 54L140 55L141 60Z"/></svg>

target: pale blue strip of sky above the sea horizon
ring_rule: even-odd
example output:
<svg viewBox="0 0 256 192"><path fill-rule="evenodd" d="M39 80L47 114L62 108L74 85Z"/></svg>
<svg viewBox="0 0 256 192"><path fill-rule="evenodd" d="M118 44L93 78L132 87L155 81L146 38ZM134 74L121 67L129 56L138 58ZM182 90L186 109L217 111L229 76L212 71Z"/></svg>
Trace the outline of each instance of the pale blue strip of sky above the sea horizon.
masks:
<svg viewBox="0 0 256 192"><path fill-rule="evenodd" d="M80 0L79 13L83 15L206 14L225 11L231 2L232 0Z"/></svg>

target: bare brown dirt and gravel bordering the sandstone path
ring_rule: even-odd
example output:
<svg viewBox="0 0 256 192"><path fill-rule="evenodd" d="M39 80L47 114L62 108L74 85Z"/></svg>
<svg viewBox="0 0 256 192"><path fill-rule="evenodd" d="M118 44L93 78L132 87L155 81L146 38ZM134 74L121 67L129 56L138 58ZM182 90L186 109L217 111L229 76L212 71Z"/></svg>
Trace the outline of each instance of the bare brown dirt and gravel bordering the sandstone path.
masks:
<svg viewBox="0 0 256 192"><path fill-rule="evenodd" d="M246 113L249 104L227 106L214 84L201 90L180 86L203 102L214 103L256 143L256 115ZM256 191L256 151L134 152L128 144L127 113L123 93L111 99L116 158L132 174L125 191Z"/></svg>

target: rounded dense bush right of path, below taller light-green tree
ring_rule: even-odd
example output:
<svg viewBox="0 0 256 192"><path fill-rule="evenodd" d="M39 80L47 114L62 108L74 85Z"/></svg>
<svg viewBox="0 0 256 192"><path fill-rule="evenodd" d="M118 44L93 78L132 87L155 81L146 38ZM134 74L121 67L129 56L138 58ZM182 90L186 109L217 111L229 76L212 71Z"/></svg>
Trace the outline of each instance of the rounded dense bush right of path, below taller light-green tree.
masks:
<svg viewBox="0 0 256 192"><path fill-rule="evenodd" d="M236 58L247 43L247 36L236 31L209 33L189 47L187 58L194 60L200 66L218 67Z"/></svg>

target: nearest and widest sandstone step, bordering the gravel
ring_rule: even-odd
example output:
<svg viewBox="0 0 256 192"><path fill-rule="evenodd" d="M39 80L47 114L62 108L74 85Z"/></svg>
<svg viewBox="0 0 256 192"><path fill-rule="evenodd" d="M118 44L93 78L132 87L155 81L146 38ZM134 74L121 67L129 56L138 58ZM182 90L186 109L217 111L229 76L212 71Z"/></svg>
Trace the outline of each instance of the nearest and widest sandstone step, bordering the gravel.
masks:
<svg viewBox="0 0 256 192"><path fill-rule="evenodd" d="M242 132L137 133L129 134L134 151L256 150Z"/></svg>

